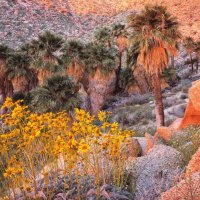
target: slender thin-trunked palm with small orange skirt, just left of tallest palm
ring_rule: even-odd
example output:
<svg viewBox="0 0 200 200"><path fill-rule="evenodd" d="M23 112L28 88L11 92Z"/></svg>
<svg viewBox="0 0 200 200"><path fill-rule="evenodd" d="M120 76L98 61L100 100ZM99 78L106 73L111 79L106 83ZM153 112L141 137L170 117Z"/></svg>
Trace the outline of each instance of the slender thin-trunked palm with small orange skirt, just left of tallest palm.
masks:
<svg viewBox="0 0 200 200"><path fill-rule="evenodd" d="M122 69L122 55L127 48L127 32L125 30L125 25L114 24L112 27L112 37L116 41L117 47L119 49L119 67L117 69L117 85L116 90L119 90L119 76Z"/></svg>

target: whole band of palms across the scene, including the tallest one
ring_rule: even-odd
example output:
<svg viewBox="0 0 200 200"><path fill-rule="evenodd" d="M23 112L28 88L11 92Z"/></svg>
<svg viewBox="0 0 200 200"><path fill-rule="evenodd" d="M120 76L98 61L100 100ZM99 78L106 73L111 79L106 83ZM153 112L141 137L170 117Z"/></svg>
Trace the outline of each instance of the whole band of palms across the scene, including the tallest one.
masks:
<svg viewBox="0 0 200 200"><path fill-rule="evenodd" d="M177 53L181 38L178 22L165 7L156 5L130 15L127 24L104 27L87 44L78 40L64 41L47 31L15 51L1 45L0 92L3 100L12 92L15 97L27 93L32 108L38 112L70 110L80 104L77 85L84 85L88 74L100 69L102 74L109 76L109 72L115 71L117 92L135 81L144 92L153 91L157 126L163 126L160 79L170 60L173 65ZM199 42L186 38L184 44L190 55L195 51L199 56ZM125 53L126 68L122 62ZM192 59L191 64L193 69ZM71 79L70 71L80 76ZM134 77L136 71L138 77Z"/></svg>

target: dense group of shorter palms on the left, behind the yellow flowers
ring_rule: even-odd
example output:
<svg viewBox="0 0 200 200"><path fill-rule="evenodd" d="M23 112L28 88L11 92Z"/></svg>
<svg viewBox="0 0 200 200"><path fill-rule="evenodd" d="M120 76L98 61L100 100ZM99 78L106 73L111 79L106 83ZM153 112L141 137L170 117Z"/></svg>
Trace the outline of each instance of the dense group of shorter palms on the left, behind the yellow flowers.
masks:
<svg viewBox="0 0 200 200"><path fill-rule="evenodd" d="M68 69L92 74L98 68L107 75L115 70L117 55L115 47L106 47L101 41L89 44L64 41L49 31L17 50L1 45L2 102L7 96L13 96L28 99L25 102L37 112L73 109L80 105L77 89L80 80L69 77ZM5 84L10 88L9 93Z"/></svg>

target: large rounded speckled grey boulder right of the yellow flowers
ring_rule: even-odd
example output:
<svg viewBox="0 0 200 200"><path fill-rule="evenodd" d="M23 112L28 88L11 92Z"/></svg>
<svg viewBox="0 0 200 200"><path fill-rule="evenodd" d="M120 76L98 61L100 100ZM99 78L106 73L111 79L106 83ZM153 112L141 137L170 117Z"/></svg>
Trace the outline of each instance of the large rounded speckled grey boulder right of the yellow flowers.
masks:
<svg viewBox="0 0 200 200"><path fill-rule="evenodd" d="M178 151L166 145L155 145L146 156L134 161L129 178L134 200L157 199L173 186L183 164L183 157Z"/></svg>

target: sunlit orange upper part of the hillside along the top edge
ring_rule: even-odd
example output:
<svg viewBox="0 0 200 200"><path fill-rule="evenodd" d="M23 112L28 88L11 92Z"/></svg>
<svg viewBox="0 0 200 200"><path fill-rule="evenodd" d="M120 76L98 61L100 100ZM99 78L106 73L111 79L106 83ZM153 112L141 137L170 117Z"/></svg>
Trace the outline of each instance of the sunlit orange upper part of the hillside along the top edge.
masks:
<svg viewBox="0 0 200 200"><path fill-rule="evenodd" d="M138 10L146 4L157 3L168 7L171 14L180 22L184 36L200 39L199 0L17 0L18 2L38 3L45 9L55 9L63 14L72 12L87 15L113 16L127 10Z"/></svg>

